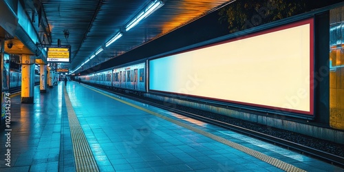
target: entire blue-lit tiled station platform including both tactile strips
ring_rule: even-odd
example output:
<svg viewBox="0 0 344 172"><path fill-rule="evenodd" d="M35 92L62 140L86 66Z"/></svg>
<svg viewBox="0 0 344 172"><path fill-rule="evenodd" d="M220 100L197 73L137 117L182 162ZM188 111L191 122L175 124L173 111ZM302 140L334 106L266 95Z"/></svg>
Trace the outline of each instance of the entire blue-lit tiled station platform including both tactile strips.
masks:
<svg viewBox="0 0 344 172"><path fill-rule="evenodd" d="M76 82L10 100L0 171L344 171Z"/></svg>

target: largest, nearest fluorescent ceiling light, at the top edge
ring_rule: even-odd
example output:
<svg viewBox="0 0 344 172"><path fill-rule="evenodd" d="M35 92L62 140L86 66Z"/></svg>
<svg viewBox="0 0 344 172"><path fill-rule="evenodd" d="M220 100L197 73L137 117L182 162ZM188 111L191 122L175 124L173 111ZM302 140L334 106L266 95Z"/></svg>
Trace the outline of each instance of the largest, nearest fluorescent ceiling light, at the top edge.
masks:
<svg viewBox="0 0 344 172"><path fill-rule="evenodd" d="M149 6L144 9L140 14L138 14L137 17L135 17L127 26L125 26L125 31L129 31L131 28L133 28L135 25L138 24L142 19L145 19L148 17L151 13L153 13L155 10L158 10L160 7L162 7L164 3L162 1L154 1Z"/></svg>

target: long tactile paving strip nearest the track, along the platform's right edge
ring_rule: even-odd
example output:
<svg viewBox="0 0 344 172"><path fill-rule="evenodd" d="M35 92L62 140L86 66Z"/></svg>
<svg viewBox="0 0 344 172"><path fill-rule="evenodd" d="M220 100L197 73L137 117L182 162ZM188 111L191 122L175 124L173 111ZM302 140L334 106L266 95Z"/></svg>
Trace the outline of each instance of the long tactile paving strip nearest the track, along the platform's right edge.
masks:
<svg viewBox="0 0 344 172"><path fill-rule="evenodd" d="M85 86L85 85L83 85L83 86ZM89 89L92 89L91 87L88 87L88 86L85 86L85 87L87 87L87 88L89 88ZM206 131L203 131L202 129L197 129L197 128L195 128L195 127L191 127L190 125L186 125L186 124L184 124L183 122L180 122L180 121L178 121L178 120L173 120L172 118L168 118L168 117L166 117L166 116L162 116L161 114L158 114L158 113L156 113L156 112L154 112L154 111L151 111L151 110L149 110L149 109L145 109L145 108L143 108L143 107L139 107L139 106L137 106L137 105L133 105L132 103L128 103L128 102L125 101L125 100L120 100L119 98L116 98L116 97L114 97L114 96L110 96L110 95L108 95L108 94L104 94L103 92L99 92L99 91L96 90L96 89L92 89L92 90L93 90L94 92L98 92L99 94L103 94L104 96L107 96L107 97L112 98L112 99L114 99L114 100L117 100L117 101L119 101L119 102L121 102L121 103L125 103L126 105L129 105L129 106L131 106L131 107L135 107L135 108L140 109L140 110L142 110L142 111L146 111L147 113L152 114L153 116L157 116L157 117L162 118L162 119L164 119L164 120L167 120L167 121L169 121L169 122L173 122L173 123L176 124L176 125L180 125L181 127L184 127L184 128L186 128L186 129L190 129L191 131L195 131L196 133L200 133L200 134L202 134L203 136L206 136L206 137L208 137L208 138L211 138L211 139L213 139L213 140L216 140L217 142L222 142L223 144L226 144L226 145L228 145L228 146L230 146L230 147L233 147L234 149L237 149L237 150L239 150L239 151L242 151L242 152L244 152L244 153L247 153L248 155L252 155L253 157L258 158L259 160L262 160L262 161L264 161L264 162L266 162L266 163L268 163L268 164L271 164L271 165L273 165L273 166L276 166L277 168L279 168L279 169L281 169L281 170L283 170L283 171L305 171L305 170L303 170L303 169L299 169L297 166L294 166L294 165L292 165L292 164L288 164L288 163L286 163L286 162L283 162L283 161L281 161L281 160L278 160L277 158L272 158L272 157L270 157L269 155L266 155L266 154L261 153L261 152L259 152L259 151L255 151L255 150L250 149L250 148L248 148L248 147L244 147L244 146L242 146L241 144L237 144L237 143L235 143L235 142L231 142L231 141L229 141L229 140L226 140L225 138L222 138L222 137L216 136L216 135L214 135L214 134L212 134L212 133L208 133L208 132L206 132Z"/></svg>

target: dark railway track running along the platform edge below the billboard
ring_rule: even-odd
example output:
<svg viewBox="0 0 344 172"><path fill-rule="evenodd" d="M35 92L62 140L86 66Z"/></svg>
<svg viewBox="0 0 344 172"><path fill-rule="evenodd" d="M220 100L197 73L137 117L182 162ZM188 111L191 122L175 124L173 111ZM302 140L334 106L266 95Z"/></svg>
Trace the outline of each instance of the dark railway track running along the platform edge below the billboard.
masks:
<svg viewBox="0 0 344 172"><path fill-rule="evenodd" d="M96 85L92 85L92 86L97 87ZM114 92L113 89L106 89L104 87L97 87L97 88L98 89L103 89L103 90L105 90L107 92L111 92L113 94L117 94L119 96L123 96L123 97L126 97L126 98L130 98L132 100L136 100L136 101L145 103L147 105L152 105L154 107L159 107L161 109L166 109L167 111L175 112L177 114L181 114L181 115L187 116L189 118L194 118L194 119L197 119L197 120L201 120L203 122L211 123L213 125L217 125L217 126L223 127L224 129L236 131L236 132L239 132L239 133L244 133L247 136L251 136L251 137L254 137L254 138L258 138L260 140L264 140L266 142L277 144L277 145L279 145L281 147L286 147L287 149L298 151L298 152L303 153L305 155L310 155L313 158L316 158L316 159L322 160L324 162L328 162L330 164L334 164L336 166L340 166L340 167L344 168L344 157L341 157L341 156L338 156L338 155L334 155L332 153L327 153L327 152L321 151L319 149L314 149L312 147L307 147L307 146L302 145L302 144L298 144L298 143L295 143L295 142L290 142L290 141L285 140L283 138L277 138L275 136L270 136L270 135L268 135L266 133L261 133L261 132L258 132L258 131L253 131L251 129L246 129L244 127L239 127L239 126L236 126L236 125L231 125L231 124L229 124L227 122L222 122L220 120L215 120L213 118L207 118L207 117L202 116L202 115L193 114L193 113L188 112L188 111L182 111L180 109L166 107L166 106L162 105L163 103L153 103L153 102L148 101L148 100L143 100L142 98L136 98L136 97L133 97L133 96L128 96L127 94L121 94L121 93L118 93L118 92Z"/></svg>

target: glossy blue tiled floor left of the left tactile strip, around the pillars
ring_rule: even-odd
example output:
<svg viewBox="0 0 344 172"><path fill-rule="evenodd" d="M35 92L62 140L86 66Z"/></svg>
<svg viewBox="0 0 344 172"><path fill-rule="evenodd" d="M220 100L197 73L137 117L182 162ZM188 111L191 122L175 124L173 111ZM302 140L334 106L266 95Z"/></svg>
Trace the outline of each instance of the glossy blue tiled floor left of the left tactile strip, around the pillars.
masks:
<svg viewBox="0 0 344 172"><path fill-rule="evenodd" d="M39 93L34 104L21 104L21 96L11 97L10 168L4 161L7 131L1 131L0 171L74 171L72 141L62 85Z"/></svg>

